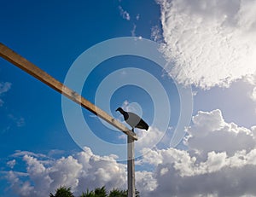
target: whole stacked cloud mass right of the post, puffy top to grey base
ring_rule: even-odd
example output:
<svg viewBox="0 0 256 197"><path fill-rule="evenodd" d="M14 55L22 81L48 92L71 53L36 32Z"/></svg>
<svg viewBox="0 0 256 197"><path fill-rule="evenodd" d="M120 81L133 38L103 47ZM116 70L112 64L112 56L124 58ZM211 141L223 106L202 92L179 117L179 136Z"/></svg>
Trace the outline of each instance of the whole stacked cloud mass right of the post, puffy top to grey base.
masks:
<svg viewBox="0 0 256 197"><path fill-rule="evenodd" d="M153 165L157 183L147 196L256 195L255 126L226 123L213 110L197 113L187 131L188 150L143 149L137 165Z"/></svg>

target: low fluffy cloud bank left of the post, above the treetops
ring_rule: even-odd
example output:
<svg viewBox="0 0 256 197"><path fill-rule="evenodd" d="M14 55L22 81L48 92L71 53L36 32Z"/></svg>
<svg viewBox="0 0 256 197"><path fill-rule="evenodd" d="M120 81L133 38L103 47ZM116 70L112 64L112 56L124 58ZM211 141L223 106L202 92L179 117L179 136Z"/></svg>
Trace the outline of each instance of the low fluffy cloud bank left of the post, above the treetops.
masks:
<svg viewBox="0 0 256 197"><path fill-rule="evenodd" d="M90 148L61 159L50 159L30 152L24 153L22 159L26 163L26 176L15 171L9 171L6 175L11 188L19 196L47 196L61 185L71 187L77 195L86 188L103 185L108 189L125 188L125 165L117 163L114 155L94 155Z"/></svg>

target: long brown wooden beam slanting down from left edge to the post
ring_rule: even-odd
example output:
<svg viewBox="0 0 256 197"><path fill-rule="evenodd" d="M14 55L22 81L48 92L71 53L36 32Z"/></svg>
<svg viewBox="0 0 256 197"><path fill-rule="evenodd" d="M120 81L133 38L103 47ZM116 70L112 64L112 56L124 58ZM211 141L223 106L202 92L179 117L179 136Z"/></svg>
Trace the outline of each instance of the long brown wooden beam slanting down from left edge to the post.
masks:
<svg viewBox="0 0 256 197"><path fill-rule="evenodd" d="M117 119L113 119L113 117L104 112L101 108L96 107L90 101L80 96L77 92L69 89L66 85L51 77L48 73L32 64L32 62L27 61L24 57L15 53L15 51L9 49L3 43L0 43L0 56L14 64L16 67L20 67L20 69L29 73L34 78L38 78L38 80L42 81L44 84L47 84L52 89L58 91L64 96L67 96L67 98L71 99L72 101L75 101L82 107L89 110L91 113L94 113L101 119L104 119L110 125L113 125L117 129L123 131L127 136L131 136L132 139L137 140L137 135L125 127L125 125L121 124Z"/></svg>

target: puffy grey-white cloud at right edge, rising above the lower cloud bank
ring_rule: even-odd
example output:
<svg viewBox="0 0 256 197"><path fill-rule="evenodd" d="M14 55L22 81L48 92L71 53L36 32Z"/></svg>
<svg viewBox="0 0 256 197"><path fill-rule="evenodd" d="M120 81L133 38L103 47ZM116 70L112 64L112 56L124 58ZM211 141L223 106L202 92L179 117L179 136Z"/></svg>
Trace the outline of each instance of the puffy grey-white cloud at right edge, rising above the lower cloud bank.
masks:
<svg viewBox="0 0 256 197"><path fill-rule="evenodd" d="M233 155L236 151L250 151L255 148L256 138L253 130L239 127L235 123L226 123L220 110L199 112L187 130L189 136L185 143L198 154L211 151L226 152Z"/></svg>

